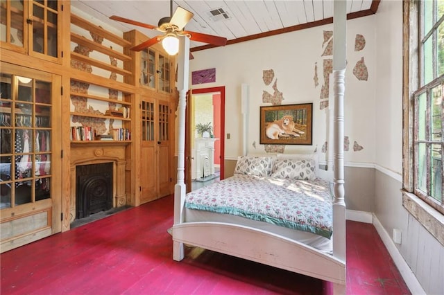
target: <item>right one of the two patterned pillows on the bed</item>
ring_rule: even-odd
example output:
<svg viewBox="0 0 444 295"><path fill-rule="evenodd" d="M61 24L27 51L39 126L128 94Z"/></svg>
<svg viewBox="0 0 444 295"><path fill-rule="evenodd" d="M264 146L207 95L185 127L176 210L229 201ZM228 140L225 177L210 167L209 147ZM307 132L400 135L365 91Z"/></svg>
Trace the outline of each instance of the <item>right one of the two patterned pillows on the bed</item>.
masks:
<svg viewBox="0 0 444 295"><path fill-rule="evenodd" d="M273 166L272 177L299 180L316 179L314 160L309 159L277 159Z"/></svg>

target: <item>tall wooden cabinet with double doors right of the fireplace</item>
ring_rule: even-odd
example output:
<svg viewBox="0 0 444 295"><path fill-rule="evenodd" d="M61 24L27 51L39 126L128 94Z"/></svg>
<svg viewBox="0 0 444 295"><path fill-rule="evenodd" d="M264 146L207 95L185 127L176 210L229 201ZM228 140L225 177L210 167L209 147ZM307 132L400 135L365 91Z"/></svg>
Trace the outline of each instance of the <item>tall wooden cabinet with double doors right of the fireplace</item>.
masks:
<svg viewBox="0 0 444 295"><path fill-rule="evenodd" d="M137 30L124 33L123 37L131 46L148 39ZM133 57L131 62L125 63L125 68L135 73L127 81L139 89L135 107L137 136L133 144L138 159L135 168L140 192L138 202L143 204L173 193L173 109L178 100L173 91L176 57L167 55L161 44L139 52L127 47L124 52Z"/></svg>

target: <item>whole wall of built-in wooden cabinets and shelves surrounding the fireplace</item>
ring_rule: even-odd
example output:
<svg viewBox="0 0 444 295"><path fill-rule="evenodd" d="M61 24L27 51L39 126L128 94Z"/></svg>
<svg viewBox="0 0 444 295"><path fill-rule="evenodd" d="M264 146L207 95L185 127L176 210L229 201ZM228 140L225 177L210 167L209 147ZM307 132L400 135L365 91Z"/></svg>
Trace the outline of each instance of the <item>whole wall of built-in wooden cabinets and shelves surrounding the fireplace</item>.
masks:
<svg viewBox="0 0 444 295"><path fill-rule="evenodd" d="M69 1L0 9L1 251L70 229L77 166L112 163L113 207L173 193L175 57L130 51L146 36L70 15Z"/></svg>

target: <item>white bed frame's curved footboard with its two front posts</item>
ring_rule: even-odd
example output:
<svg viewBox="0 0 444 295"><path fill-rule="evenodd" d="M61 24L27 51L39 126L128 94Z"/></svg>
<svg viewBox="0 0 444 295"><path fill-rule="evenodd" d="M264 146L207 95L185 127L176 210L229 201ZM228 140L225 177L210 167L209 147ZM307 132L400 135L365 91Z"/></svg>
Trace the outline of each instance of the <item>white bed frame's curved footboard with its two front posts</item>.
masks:
<svg viewBox="0 0 444 295"><path fill-rule="evenodd" d="M327 254L296 240L221 222L185 222L185 107L189 79L189 38L181 37L178 67L178 183L174 191L173 259L185 256L184 244L237 256L287 269L333 284L334 294L345 294L345 202L343 177L343 96L345 74L346 1L334 1L334 202L333 254ZM260 241L260 242L259 242ZM264 242L266 241L266 242Z"/></svg>

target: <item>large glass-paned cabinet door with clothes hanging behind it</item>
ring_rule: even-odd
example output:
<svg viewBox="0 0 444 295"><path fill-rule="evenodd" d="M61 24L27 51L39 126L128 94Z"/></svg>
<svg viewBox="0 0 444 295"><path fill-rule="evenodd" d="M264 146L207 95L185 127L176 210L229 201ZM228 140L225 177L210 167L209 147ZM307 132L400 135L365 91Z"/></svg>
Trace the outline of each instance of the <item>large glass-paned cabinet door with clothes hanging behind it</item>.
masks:
<svg viewBox="0 0 444 295"><path fill-rule="evenodd" d="M51 198L51 82L0 74L1 208Z"/></svg>

